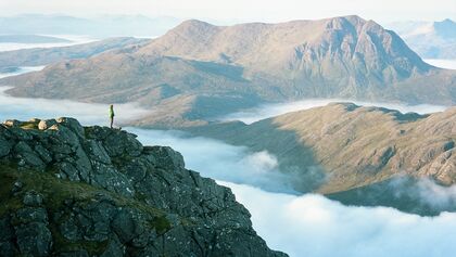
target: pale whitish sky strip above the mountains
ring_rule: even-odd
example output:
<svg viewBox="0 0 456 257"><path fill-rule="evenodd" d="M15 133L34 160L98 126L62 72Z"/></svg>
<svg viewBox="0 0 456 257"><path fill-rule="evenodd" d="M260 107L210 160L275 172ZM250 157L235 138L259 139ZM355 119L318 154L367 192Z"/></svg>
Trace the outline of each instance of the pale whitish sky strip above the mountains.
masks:
<svg viewBox="0 0 456 257"><path fill-rule="evenodd" d="M357 14L378 22L456 20L456 0L0 0L0 15L143 14L279 22Z"/></svg>

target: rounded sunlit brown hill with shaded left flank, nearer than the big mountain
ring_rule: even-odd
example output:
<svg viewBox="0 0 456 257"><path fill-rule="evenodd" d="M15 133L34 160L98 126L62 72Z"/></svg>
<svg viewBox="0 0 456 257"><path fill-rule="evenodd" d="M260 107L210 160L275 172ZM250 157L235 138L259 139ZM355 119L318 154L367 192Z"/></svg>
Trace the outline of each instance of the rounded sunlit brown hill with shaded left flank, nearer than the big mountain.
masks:
<svg viewBox="0 0 456 257"><path fill-rule="evenodd" d="M330 104L252 125L217 124L189 131L269 151L284 172L296 174L300 191L333 194L400 175L456 183L456 108L427 116Z"/></svg>

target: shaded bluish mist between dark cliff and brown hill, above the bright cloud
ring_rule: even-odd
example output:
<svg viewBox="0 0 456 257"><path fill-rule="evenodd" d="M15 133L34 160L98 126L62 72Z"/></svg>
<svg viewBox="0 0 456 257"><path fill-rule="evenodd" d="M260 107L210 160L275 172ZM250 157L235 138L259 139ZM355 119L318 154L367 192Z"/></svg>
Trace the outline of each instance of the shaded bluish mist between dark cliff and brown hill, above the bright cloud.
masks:
<svg viewBox="0 0 456 257"><path fill-rule="evenodd" d="M295 177L278 170L276 156L267 151L251 153L246 147L229 145L206 138L188 138L178 131L126 128L147 145L170 145L186 159L187 167L203 176L235 183L245 183L273 192L291 190Z"/></svg>

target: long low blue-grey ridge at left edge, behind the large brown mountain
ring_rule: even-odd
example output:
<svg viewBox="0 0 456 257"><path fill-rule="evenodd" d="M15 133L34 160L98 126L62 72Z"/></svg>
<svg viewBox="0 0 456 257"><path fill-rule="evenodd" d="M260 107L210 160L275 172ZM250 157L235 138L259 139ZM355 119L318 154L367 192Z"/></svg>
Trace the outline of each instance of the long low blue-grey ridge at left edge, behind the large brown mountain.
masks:
<svg viewBox="0 0 456 257"><path fill-rule="evenodd" d="M145 42L145 39L111 38L101 41L59 48L36 48L0 52L0 69L17 66L41 66L72 59L87 59L112 49Z"/></svg>

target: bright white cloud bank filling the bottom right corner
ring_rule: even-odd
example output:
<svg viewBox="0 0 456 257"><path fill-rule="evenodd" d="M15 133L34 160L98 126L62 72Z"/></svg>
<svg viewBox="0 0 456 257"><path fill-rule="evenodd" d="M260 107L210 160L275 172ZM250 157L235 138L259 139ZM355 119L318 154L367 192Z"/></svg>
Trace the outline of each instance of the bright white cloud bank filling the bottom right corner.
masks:
<svg viewBox="0 0 456 257"><path fill-rule="evenodd" d="M419 217L384 207L347 207L319 195L293 196L221 182L252 214L269 247L290 256L447 257L456 214Z"/></svg>

